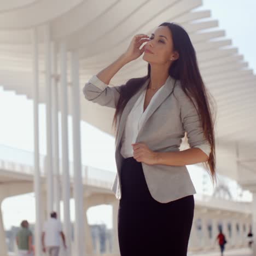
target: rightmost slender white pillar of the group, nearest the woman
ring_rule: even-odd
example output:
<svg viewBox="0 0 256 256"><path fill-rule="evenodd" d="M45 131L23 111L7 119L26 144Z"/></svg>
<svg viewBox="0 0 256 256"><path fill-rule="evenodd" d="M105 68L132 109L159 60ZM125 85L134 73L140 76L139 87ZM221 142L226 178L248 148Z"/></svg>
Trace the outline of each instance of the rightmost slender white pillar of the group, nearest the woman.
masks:
<svg viewBox="0 0 256 256"><path fill-rule="evenodd" d="M73 159L74 159L74 202L75 202L75 247L77 254L85 255L83 179L80 138L80 86L78 53L73 52L72 60L72 110L73 110Z"/></svg>

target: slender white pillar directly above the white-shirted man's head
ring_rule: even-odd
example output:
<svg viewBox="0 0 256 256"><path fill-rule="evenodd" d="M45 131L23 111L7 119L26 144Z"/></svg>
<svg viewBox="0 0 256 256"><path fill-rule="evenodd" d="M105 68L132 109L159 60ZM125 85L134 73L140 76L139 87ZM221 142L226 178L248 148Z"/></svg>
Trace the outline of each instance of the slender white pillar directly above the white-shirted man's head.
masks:
<svg viewBox="0 0 256 256"><path fill-rule="evenodd" d="M50 48L50 26L44 27L45 45L45 85L46 85L46 144L47 144L47 165L46 165L46 184L47 184L47 211L53 211L53 151L52 151L52 126L51 126L51 48Z"/></svg>

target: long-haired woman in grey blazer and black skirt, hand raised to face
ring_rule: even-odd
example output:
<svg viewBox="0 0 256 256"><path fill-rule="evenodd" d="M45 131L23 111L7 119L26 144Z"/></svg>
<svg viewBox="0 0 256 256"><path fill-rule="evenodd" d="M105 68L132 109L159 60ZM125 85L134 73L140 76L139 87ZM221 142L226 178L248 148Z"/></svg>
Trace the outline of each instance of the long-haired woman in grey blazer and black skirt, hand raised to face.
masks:
<svg viewBox="0 0 256 256"><path fill-rule="evenodd" d="M121 67L143 53L146 77L108 86ZM121 256L187 255L196 191L185 165L207 162L216 180L213 120L187 32L164 22L150 38L137 34L83 92L87 100L115 108L112 190L120 200ZM191 148L179 151L185 132Z"/></svg>

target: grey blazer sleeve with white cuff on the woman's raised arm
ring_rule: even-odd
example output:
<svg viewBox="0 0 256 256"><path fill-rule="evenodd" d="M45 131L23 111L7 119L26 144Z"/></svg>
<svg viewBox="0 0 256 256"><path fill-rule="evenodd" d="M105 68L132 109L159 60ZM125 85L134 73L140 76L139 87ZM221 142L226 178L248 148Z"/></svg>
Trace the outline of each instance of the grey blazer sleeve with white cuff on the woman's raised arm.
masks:
<svg viewBox="0 0 256 256"><path fill-rule="evenodd" d="M102 82L97 75L93 75L88 83L84 85L83 94L88 101L101 106L116 108L122 86L124 85L110 87Z"/></svg>

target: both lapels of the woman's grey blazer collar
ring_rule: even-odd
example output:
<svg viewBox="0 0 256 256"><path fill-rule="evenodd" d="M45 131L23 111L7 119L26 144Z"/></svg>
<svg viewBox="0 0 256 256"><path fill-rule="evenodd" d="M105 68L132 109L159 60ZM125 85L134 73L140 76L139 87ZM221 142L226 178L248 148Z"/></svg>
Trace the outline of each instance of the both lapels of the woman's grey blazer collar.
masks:
<svg viewBox="0 0 256 256"><path fill-rule="evenodd" d="M127 104L126 104L126 106L123 110L123 113L121 114L120 121L119 121L119 131L118 131L118 134L117 134L117 138L115 139L116 148L118 148L118 146L120 144L120 141L121 141L121 137L123 136L123 132L124 132L127 117L129 115L129 113L131 112L132 107L134 106L134 104L138 100L138 97L142 94L143 90L145 90L147 88L149 80L150 80L150 78L148 78L146 80L146 82L142 85L141 89L139 89L139 91L130 98L130 100L127 102ZM147 123L147 120L151 117L151 115L155 112L155 110L160 106L160 104L171 94L172 89L174 87L174 83L175 83L175 79L173 79L169 75L168 78L166 79L165 84L163 85L164 88L161 88L161 91L159 92L159 94L156 97L153 104L150 104L150 108L147 112L147 115L144 119L144 122L141 126L141 129L138 132L137 138L139 137L140 133L143 131L143 127Z"/></svg>

